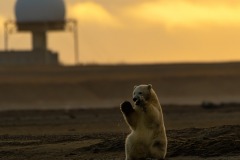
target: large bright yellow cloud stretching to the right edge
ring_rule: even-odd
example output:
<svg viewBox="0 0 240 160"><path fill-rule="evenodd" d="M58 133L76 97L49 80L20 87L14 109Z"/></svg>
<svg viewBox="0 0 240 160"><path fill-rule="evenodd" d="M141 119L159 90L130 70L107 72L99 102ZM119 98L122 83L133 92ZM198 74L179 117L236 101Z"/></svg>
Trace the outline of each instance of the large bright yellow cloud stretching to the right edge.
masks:
<svg viewBox="0 0 240 160"><path fill-rule="evenodd" d="M222 1L220 1L222 2ZM125 15L166 27L199 27L203 25L240 26L240 3L195 3L189 0L143 2L125 10Z"/></svg>

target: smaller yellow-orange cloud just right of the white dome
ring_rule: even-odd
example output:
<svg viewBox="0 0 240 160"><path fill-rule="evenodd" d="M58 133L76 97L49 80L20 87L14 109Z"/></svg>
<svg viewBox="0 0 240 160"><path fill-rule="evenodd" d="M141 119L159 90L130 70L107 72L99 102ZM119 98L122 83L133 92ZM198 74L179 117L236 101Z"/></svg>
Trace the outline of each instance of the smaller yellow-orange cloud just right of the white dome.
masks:
<svg viewBox="0 0 240 160"><path fill-rule="evenodd" d="M105 27L121 27L116 17L101 5L94 2L78 3L70 7L70 17L78 19L85 24Z"/></svg>

